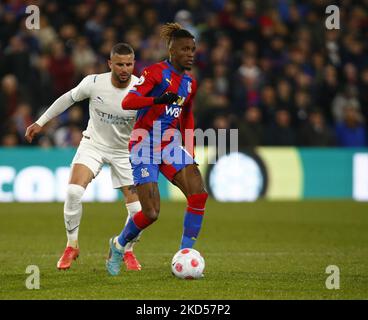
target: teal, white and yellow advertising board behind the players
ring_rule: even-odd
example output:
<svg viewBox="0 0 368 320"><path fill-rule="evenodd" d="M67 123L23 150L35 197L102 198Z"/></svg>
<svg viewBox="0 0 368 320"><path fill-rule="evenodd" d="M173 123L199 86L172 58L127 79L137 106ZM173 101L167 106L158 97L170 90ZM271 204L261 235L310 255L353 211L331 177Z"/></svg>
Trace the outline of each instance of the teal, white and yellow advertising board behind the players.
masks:
<svg viewBox="0 0 368 320"><path fill-rule="evenodd" d="M72 148L0 149L0 202L64 201L74 153ZM212 148L197 148L196 155L209 192L219 201L368 200L367 149L261 147L223 155L216 163L209 161ZM159 186L163 199L184 200L162 176ZM83 200L119 198L104 167Z"/></svg>

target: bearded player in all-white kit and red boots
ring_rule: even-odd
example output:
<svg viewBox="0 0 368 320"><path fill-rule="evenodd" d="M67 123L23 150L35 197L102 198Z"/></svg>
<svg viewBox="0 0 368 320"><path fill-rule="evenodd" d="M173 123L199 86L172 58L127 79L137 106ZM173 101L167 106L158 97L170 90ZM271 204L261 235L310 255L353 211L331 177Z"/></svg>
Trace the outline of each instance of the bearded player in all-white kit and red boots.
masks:
<svg viewBox="0 0 368 320"><path fill-rule="evenodd" d="M49 120L61 114L75 102L89 98L90 119L71 164L64 204L68 242L57 262L58 269L70 268L73 260L79 256L81 199L88 184L98 175L105 163L110 165L113 187L119 188L124 194L128 218L141 210L133 183L128 150L136 111L121 108L121 101L138 82L138 78L132 75L134 62L132 47L125 43L116 44L108 60L111 72L86 76L77 87L60 96L26 130L25 137L28 142L32 142L34 136L41 132L42 127ZM133 253L135 241L130 243L123 258L128 270L141 269Z"/></svg>

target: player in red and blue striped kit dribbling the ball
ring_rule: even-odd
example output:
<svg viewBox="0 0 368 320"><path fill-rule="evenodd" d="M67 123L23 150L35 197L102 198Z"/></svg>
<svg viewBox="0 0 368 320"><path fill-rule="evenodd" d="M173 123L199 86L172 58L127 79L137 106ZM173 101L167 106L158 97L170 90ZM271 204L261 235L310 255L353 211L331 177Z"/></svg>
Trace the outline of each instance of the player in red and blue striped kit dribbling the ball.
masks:
<svg viewBox="0 0 368 320"><path fill-rule="evenodd" d="M188 70L194 62L195 39L177 23L162 26L161 36L167 41L169 59L147 67L122 101L124 110L138 110L129 149L142 210L118 237L110 239L106 266L112 275L120 272L125 245L158 218L159 172L187 198L181 248L193 247L208 197L194 161L192 103L197 83ZM176 130L178 126L180 131Z"/></svg>

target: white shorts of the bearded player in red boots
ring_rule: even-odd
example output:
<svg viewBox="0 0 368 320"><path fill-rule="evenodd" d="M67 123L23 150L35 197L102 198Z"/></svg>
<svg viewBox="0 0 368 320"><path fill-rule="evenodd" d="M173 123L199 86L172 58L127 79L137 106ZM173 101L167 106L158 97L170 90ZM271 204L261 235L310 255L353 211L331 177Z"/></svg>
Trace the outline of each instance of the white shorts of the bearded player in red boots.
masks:
<svg viewBox="0 0 368 320"><path fill-rule="evenodd" d="M97 145L90 139L83 137L71 166L75 163L87 166L93 172L95 178L100 173L103 165L108 164L113 188L134 184L128 150L121 151Z"/></svg>

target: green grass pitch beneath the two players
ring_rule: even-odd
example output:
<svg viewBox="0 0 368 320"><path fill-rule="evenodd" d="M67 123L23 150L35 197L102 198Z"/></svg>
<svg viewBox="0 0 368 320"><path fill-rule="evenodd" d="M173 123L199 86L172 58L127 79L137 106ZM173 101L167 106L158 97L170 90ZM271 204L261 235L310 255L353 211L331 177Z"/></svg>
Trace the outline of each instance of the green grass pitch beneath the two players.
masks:
<svg viewBox="0 0 368 320"><path fill-rule="evenodd" d="M136 245L143 270L111 277L108 239L125 222L122 203L84 204L79 259L56 262L65 246L63 204L0 204L0 299L367 299L368 207L352 201L208 202L196 249L205 278L172 276L185 203L162 202L160 219ZM28 265L40 289L28 290ZM340 289L328 290L337 265ZM125 267L125 266L124 266Z"/></svg>

